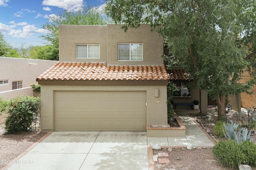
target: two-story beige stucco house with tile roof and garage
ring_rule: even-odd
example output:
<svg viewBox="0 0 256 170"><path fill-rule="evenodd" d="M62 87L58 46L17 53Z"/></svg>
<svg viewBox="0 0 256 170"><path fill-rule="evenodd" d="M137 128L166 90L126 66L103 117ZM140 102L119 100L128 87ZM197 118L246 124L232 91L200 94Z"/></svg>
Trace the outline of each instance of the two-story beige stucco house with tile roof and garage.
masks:
<svg viewBox="0 0 256 170"><path fill-rule="evenodd" d="M127 32L115 24L60 25L60 61L36 78L41 130L168 127L163 54L163 37L150 25Z"/></svg>

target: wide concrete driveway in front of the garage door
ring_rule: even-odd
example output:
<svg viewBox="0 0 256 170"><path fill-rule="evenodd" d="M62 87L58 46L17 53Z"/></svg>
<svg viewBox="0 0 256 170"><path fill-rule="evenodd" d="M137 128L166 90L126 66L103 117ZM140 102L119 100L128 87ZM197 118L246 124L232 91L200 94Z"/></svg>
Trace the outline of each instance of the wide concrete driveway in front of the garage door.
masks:
<svg viewBox="0 0 256 170"><path fill-rule="evenodd" d="M148 170L146 132L53 132L8 170Z"/></svg>

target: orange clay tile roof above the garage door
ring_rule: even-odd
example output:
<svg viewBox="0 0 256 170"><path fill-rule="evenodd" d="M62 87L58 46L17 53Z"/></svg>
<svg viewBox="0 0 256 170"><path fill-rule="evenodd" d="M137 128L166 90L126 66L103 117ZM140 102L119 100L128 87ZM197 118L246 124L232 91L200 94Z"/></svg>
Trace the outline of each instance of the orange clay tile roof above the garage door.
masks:
<svg viewBox="0 0 256 170"><path fill-rule="evenodd" d="M114 66L107 63L58 62L37 80L169 80L164 65Z"/></svg>

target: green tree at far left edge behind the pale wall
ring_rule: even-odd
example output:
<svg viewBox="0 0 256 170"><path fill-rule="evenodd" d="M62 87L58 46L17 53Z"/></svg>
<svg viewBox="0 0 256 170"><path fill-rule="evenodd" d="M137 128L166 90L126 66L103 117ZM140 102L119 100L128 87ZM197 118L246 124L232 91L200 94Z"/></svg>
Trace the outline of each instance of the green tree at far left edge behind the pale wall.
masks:
<svg viewBox="0 0 256 170"><path fill-rule="evenodd" d="M13 49L4 39L4 35L0 32L0 57L20 58L20 54Z"/></svg>

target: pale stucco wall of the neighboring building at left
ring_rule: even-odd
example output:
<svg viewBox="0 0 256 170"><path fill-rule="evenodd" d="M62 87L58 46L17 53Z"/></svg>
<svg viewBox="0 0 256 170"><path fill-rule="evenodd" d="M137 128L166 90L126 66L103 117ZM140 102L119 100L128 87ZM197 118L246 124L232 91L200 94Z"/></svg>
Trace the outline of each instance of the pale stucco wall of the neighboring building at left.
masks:
<svg viewBox="0 0 256 170"><path fill-rule="evenodd" d="M0 84L0 92L12 90L13 81L22 81L22 88L37 84L36 77L55 63L49 60L0 57L0 80L8 80L8 84Z"/></svg>

